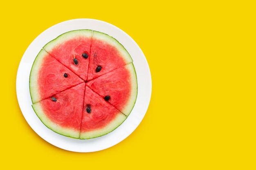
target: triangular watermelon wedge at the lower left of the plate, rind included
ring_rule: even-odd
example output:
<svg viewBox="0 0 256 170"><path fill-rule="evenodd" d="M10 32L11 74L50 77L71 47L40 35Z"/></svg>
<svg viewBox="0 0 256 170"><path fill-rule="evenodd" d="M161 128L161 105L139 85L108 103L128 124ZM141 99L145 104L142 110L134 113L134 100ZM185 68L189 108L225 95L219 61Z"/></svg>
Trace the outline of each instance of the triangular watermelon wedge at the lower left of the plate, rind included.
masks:
<svg viewBox="0 0 256 170"><path fill-rule="evenodd" d="M43 99L32 105L39 119L54 132L79 138L85 83Z"/></svg>

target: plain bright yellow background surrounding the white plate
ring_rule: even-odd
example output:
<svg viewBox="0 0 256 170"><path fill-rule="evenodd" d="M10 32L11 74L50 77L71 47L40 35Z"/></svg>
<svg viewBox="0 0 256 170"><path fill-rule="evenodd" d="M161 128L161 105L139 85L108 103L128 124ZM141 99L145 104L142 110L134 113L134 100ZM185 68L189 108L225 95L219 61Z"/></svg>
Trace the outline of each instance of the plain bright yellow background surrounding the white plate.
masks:
<svg viewBox="0 0 256 170"><path fill-rule="evenodd" d="M3 1L0 169L256 168L253 1ZM45 29L75 18L113 24L144 52L152 97L138 128L91 153L62 150L27 124L16 73Z"/></svg>

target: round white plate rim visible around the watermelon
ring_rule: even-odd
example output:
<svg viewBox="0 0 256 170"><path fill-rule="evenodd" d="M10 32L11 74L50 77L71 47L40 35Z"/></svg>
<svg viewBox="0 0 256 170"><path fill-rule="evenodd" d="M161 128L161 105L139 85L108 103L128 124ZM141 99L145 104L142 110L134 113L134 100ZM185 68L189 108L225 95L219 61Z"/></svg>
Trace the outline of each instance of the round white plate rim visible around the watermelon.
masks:
<svg viewBox="0 0 256 170"><path fill-rule="evenodd" d="M32 102L29 93L29 74L38 52L47 42L53 40L58 35L76 29L92 29L107 33L116 38L130 53L134 61L138 81L137 101L126 121L107 135L87 140L65 137L47 128L34 113L31 107ZM16 77L18 103L29 126L50 144L73 152L95 152L103 150L118 144L128 137L139 126L146 114L150 102L151 89L152 83L148 62L136 42L116 26L93 19L75 19L61 22L38 35L25 51L20 61Z"/></svg>

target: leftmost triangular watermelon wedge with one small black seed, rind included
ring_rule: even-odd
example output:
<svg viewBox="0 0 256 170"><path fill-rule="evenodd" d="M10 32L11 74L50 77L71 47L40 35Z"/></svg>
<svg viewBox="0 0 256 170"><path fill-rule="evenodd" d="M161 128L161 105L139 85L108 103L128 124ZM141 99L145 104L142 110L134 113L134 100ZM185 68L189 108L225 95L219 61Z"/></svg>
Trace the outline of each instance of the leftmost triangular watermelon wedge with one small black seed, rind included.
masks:
<svg viewBox="0 0 256 170"><path fill-rule="evenodd" d="M29 77L32 103L82 82L84 82L83 79L42 49L36 56Z"/></svg>

